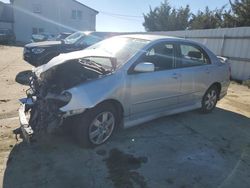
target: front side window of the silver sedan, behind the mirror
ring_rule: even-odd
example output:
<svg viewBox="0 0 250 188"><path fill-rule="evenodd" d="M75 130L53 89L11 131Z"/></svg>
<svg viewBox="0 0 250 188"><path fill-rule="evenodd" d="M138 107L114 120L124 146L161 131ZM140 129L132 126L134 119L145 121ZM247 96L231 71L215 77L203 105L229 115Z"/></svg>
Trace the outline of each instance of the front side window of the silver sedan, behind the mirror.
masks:
<svg viewBox="0 0 250 188"><path fill-rule="evenodd" d="M161 42L151 47L140 61L150 62L155 65L155 71L174 68L174 45Z"/></svg>

